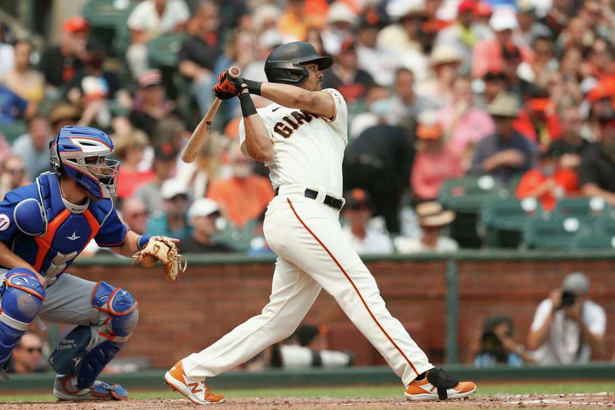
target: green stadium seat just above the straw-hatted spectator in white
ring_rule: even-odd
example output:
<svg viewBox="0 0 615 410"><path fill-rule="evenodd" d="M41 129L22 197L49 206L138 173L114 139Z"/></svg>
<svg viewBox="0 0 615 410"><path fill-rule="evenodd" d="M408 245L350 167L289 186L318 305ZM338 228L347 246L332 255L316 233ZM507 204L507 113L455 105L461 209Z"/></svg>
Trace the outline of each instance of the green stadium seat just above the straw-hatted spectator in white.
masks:
<svg viewBox="0 0 615 410"><path fill-rule="evenodd" d="M504 189L491 175L472 175L447 179L440 187L438 199L445 208L468 213L478 213L483 201Z"/></svg>

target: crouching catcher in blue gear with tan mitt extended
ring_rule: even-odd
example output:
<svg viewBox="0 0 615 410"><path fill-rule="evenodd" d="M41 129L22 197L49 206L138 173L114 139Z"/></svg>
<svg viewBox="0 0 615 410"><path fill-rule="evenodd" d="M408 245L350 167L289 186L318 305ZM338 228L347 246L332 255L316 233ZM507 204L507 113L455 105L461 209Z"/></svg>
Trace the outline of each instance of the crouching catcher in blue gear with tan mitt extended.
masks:
<svg viewBox="0 0 615 410"><path fill-rule="evenodd" d="M140 251L145 266L160 259L171 277L180 269L177 240L157 237L151 242L166 248L154 251L151 237L135 234L118 218L111 197L119 161L108 158L112 153L104 132L63 127L50 143L54 172L7 192L0 202L0 369L33 321L76 325L49 358L60 400L128 397L121 385L98 375L137 326L137 301L105 281L65 273L85 245L93 239L124 256Z"/></svg>

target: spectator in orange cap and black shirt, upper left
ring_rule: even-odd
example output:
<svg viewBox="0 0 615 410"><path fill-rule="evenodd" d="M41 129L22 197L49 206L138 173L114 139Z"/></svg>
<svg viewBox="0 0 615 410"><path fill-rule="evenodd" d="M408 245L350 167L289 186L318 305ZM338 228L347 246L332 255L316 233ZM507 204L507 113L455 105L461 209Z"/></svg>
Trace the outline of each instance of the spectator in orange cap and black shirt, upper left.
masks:
<svg viewBox="0 0 615 410"><path fill-rule="evenodd" d="M60 45L47 47L39 69L47 87L57 88L71 81L82 68L89 25L83 17L71 17L62 25Z"/></svg>

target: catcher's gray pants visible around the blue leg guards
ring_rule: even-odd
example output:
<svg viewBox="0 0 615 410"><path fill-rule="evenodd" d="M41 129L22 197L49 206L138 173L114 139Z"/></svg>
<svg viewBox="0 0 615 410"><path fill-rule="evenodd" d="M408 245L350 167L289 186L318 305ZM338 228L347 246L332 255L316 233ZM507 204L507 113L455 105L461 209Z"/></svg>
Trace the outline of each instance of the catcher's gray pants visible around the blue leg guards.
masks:
<svg viewBox="0 0 615 410"><path fill-rule="evenodd" d="M0 269L0 283L7 269ZM73 275L63 274L46 289L47 298L41 304L39 318L42 321L69 325L103 325L109 313L92 307L92 292L96 282ZM93 329L98 333L98 328ZM95 334L95 333L93 333Z"/></svg>

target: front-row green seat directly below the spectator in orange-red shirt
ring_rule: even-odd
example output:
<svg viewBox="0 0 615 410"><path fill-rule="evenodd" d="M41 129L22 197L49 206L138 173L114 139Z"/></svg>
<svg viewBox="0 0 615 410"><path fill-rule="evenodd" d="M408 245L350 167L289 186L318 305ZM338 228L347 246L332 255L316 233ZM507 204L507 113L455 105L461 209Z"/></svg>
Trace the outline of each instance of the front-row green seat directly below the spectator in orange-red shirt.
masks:
<svg viewBox="0 0 615 410"><path fill-rule="evenodd" d="M544 214L526 224L523 241L528 248L568 249L574 236L587 225L587 219L574 216L557 218Z"/></svg>

